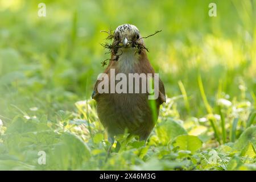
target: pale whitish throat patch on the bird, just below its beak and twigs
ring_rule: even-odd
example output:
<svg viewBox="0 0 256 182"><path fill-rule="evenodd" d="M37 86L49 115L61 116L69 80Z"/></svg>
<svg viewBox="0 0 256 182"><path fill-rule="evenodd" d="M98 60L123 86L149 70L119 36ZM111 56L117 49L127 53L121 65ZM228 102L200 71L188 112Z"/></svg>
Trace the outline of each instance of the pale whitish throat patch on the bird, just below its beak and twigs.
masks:
<svg viewBox="0 0 256 182"><path fill-rule="evenodd" d="M135 48L123 48L119 49L117 55L118 68L120 73L134 73L134 67L138 64L138 54L135 53Z"/></svg>

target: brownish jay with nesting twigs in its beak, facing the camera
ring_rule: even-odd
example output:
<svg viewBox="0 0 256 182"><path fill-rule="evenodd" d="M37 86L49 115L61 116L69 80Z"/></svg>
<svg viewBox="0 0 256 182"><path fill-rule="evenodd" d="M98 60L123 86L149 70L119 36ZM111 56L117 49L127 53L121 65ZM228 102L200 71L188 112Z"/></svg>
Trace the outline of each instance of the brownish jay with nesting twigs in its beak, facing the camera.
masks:
<svg viewBox="0 0 256 182"><path fill-rule="evenodd" d="M147 57L147 48L138 28L133 24L122 24L113 32L113 44L110 46L111 57L104 73L113 81L110 71L114 69L115 75L123 73L151 74L155 77ZM152 78L151 77L151 78ZM100 122L108 133L110 143L114 137L125 132L139 137L139 140L147 140L156 124L159 115L159 107L166 102L164 84L159 78L158 98L148 100L150 93L100 93L98 85L102 80L97 80L94 85L92 98L96 100L96 110ZM117 80L114 80L114 86ZM110 83L109 83L109 86ZM112 85L113 86L113 85ZM127 84L127 89L129 89ZM133 85L134 86L134 85ZM142 88L139 82L139 88ZM152 104L153 103L153 104Z"/></svg>

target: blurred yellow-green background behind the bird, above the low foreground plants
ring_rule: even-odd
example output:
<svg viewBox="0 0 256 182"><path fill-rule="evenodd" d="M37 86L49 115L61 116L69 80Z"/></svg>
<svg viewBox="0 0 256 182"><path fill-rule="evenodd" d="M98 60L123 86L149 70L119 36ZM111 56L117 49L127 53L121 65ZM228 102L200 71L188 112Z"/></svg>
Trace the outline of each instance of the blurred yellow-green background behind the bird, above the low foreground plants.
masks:
<svg viewBox="0 0 256 182"><path fill-rule="evenodd" d="M38 16L40 2L46 3L46 17ZM210 2L217 17L208 15ZM199 76L209 105L225 98L255 109L255 17L253 0L1 0L0 119L8 130L19 115L54 123L60 110L76 113L75 102L90 98L104 71L100 63L109 58L100 31L123 23L143 36L162 30L144 41L167 96L177 97L180 119L207 114ZM187 102L179 97L182 87Z"/></svg>

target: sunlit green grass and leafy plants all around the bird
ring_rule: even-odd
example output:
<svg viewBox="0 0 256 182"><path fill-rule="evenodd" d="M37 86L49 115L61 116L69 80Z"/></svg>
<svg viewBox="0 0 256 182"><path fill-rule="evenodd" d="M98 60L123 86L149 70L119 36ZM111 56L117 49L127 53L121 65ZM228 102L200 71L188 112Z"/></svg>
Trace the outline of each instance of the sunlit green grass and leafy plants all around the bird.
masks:
<svg viewBox="0 0 256 182"><path fill-rule="evenodd" d="M256 1L40 2L0 0L0 169L256 170ZM145 43L168 98L146 145L117 136L106 160L90 95L123 23L162 30Z"/></svg>

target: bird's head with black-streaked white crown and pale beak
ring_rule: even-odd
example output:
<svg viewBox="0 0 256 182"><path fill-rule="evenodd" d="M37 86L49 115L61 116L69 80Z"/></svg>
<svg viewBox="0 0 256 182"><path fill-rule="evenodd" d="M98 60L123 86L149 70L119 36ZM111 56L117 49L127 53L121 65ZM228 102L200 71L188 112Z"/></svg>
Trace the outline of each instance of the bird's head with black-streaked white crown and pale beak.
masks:
<svg viewBox="0 0 256 182"><path fill-rule="evenodd" d="M139 30L133 24L122 24L114 31L114 42L122 48L135 48L138 44L144 45Z"/></svg>

